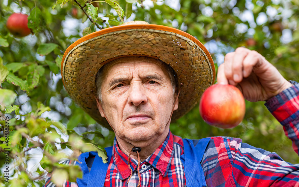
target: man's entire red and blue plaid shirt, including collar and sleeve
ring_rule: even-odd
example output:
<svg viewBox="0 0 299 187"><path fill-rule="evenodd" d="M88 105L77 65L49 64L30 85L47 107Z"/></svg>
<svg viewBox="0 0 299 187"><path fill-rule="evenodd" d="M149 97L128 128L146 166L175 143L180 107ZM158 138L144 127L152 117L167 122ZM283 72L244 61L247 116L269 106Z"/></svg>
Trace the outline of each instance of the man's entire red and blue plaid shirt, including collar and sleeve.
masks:
<svg viewBox="0 0 299 187"><path fill-rule="evenodd" d="M269 111L283 125L285 134L299 147L299 84L284 90L265 103ZM106 174L105 186L134 186L138 184L137 160L130 159L133 175L127 185L130 170L128 156L114 141L113 154ZM183 142L168 134L159 148L140 164L141 186L184 186L184 168L180 155ZM186 153L187 154L187 153ZM74 164L66 161L65 164ZM213 186L299 186L299 164L284 162L276 153L255 148L241 139L212 137L201 165L208 187ZM189 171L190 172L190 171ZM47 175L46 187L54 187ZM64 187L77 187L65 181Z"/></svg>

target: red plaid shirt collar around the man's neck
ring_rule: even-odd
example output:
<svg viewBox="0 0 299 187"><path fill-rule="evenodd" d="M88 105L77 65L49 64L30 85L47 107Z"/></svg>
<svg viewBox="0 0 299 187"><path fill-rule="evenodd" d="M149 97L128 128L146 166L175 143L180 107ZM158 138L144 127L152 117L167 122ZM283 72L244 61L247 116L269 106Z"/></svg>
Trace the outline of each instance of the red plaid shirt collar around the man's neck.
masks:
<svg viewBox="0 0 299 187"><path fill-rule="evenodd" d="M147 162L154 168L158 169L165 177L170 166L171 159L173 158L173 153L173 134L169 131L164 142L144 162ZM124 154L123 151L120 150L116 138L114 139L112 157L118 173L120 173L121 180L128 178L131 174L128 167L128 155ZM138 166L138 161L132 157L130 158L129 163L133 171Z"/></svg>

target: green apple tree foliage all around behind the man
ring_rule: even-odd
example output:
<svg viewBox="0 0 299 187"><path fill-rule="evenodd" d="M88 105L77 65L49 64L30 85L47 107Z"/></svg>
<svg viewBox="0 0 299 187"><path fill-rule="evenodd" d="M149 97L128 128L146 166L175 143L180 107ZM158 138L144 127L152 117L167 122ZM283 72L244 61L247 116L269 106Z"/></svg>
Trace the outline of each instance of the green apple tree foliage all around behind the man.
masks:
<svg viewBox="0 0 299 187"><path fill-rule="evenodd" d="M103 147L112 145L114 133L85 114L61 81L63 53L80 37L144 20L195 36L210 50L216 69L226 53L245 46L263 54L287 80L299 82L298 7L299 1L290 0L0 0L0 186L42 186L46 172L58 184L74 181L82 172L59 164L62 159L86 151L106 158ZM33 34L9 33L6 21L14 12L29 15ZM241 138L298 163L291 141L263 104L246 101L243 122L225 130L206 124L196 105L170 129L183 138Z"/></svg>

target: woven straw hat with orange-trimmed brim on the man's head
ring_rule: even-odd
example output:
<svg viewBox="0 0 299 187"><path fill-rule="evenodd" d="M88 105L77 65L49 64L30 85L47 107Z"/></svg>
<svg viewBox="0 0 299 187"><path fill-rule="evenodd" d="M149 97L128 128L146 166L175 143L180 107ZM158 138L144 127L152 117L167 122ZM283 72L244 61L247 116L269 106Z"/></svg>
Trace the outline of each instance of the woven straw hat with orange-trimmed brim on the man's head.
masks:
<svg viewBox="0 0 299 187"><path fill-rule="evenodd" d="M179 108L173 112L172 122L188 113L215 80L215 66L210 53L201 42L184 31L133 21L83 36L63 55L62 82L74 102L109 129L91 91L97 93L95 76L103 65L128 55L160 59L177 73L183 86Z"/></svg>

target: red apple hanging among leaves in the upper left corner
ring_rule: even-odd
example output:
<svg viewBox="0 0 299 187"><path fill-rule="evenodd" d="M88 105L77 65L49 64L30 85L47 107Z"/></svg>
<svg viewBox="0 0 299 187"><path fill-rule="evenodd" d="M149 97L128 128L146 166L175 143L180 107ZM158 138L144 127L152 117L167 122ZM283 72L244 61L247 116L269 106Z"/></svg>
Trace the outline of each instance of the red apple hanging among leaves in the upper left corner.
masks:
<svg viewBox="0 0 299 187"><path fill-rule="evenodd" d="M13 13L6 22L6 27L10 33L17 37L24 37L30 34L28 28L28 15L22 13Z"/></svg>

